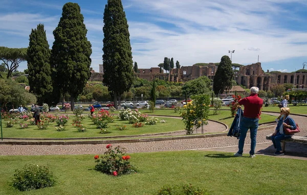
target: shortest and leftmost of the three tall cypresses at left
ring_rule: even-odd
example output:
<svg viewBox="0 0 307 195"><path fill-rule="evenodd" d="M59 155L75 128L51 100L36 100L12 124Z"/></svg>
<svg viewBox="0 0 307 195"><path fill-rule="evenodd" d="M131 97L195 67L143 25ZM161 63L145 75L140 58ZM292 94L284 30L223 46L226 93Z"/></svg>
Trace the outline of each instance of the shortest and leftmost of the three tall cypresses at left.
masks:
<svg viewBox="0 0 307 195"><path fill-rule="evenodd" d="M42 105L50 101L52 92L50 49L43 24L32 29L27 50L30 91L37 96L37 103Z"/></svg>

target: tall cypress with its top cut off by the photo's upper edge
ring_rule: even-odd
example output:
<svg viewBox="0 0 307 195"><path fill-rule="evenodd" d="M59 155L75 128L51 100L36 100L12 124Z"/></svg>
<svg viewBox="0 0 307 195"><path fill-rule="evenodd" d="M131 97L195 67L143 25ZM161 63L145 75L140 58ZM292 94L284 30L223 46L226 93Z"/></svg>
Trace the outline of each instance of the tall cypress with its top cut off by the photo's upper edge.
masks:
<svg viewBox="0 0 307 195"><path fill-rule="evenodd" d="M103 14L103 83L117 97L134 82L130 34L121 0L108 0ZM115 104L117 108L117 104Z"/></svg>

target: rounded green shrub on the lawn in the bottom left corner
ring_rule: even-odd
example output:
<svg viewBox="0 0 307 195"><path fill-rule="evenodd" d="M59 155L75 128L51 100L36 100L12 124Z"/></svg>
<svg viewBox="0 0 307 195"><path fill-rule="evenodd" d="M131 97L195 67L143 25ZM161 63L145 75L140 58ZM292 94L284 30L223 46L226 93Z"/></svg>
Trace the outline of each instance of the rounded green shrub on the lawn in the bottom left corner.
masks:
<svg viewBox="0 0 307 195"><path fill-rule="evenodd" d="M16 169L11 178L13 187L20 191L51 187L55 184L53 174L49 168L36 164L29 164L22 169Z"/></svg>

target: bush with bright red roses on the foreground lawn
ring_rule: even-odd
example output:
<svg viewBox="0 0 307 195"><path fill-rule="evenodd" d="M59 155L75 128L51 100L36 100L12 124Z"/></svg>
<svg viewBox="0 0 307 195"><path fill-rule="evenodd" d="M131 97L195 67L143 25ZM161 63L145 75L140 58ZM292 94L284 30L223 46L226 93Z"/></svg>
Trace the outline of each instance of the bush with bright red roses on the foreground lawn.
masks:
<svg viewBox="0 0 307 195"><path fill-rule="evenodd" d="M97 162L95 170L113 176L137 173L135 166L130 164L130 156L125 155L124 148L118 145L113 149L111 144L107 144L106 148L104 155L94 157Z"/></svg>

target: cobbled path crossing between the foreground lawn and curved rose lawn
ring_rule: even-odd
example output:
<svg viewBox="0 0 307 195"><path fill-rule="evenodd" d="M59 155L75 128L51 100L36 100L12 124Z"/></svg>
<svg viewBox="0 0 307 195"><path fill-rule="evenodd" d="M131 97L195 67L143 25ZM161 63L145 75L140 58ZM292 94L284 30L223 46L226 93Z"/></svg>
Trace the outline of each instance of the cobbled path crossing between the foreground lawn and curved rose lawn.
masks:
<svg viewBox="0 0 307 195"><path fill-rule="evenodd" d="M277 113L270 113L277 115ZM296 123L300 124L302 131L298 136L307 136L307 120L305 116L292 116ZM274 132L274 129L258 131L256 151L258 154L265 154L261 150L266 150L272 144L266 140L266 135ZM215 150L233 152L237 150L238 139L234 137L207 137L195 139L178 139L167 141L151 141L137 143L121 143L126 148L127 153L139 152L161 152L161 151L181 151L181 150ZM245 141L244 153L249 152L250 137ZM266 145L267 144L267 145ZM0 145L0 155L79 155L79 154L102 154L106 144L79 144L79 145ZM265 146L265 148L264 148ZM290 150L291 148L291 150ZM300 150L300 151L299 151ZM288 147L287 152L302 152L307 155L305 145L294 144ZM306 156L307 157L307 156ZM307 158L304 158L307 159Z"/></svg>

